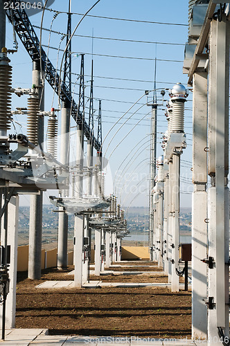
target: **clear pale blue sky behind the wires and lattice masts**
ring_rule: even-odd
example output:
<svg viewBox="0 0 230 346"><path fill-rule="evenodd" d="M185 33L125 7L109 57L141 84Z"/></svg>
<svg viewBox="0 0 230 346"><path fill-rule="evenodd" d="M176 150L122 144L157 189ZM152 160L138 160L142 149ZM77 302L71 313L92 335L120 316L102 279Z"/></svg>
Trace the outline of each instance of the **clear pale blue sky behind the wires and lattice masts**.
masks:
<svg viewBox="0 0 230 346"><path fill-rule="evenodd" d="M68 10L69 1L55 0L51 5L51 9L66 12ZM71 12L73 13L85 13L92 5L94 1L72 1ZM50 29L51 21L53 19L54 12L48 10L44 14L44 28ZM188 23L188 0L175 0L172 1L157 1L157 0L100 0L98 5L90 12L90 15L102 16L102 17L115 17L120 19L134 19L139 21L151 21L161 22L166 24L187 24ZM72 16L72 29L82 16L73 14ZM35 26L40 26L41 12L37 15L30 17L30 21ZM102 19L95 17L86 17L80 27L76 31L76 35L84 35L88 37L73 37L72 51L73 53L73 73L80 72L80 57L78 54L85 54L85 81L89 81L88 77L91 73L91 53L92 53L92 33L94 31L94 109L95 114L98 113L98 100L102 100L102 116L103 116L103 137L105 138L109 129L118 118L120 118L127 109L132 106L132 103L136 102L145 90L153 89L154 80L154 58L157 57L157 88L171 88L176 82L182 82L186 85L187 76L182 74L182 61L184 60L184 44L187 40L188 28L187 26L179 25L166 25L166 24L153 24L143 23L136 21L121 21L114 19ZM39 35L39 29L35 28L37 35ZM67 30L67 14L60 13L53 21L53 30L66 33ZM50 46L57 48L60 44L62 35L56 33L51 34ZM102 37L103 39L98 39ZM105 39L109 38L109 39ZM125 39L141 42L123 42L114 39ZM143 42L148 43L143 43ZM6 46L12 47L12 27L7 24L7 38ZM152 43L149 43L152 42ZM154 42L159 42L155 44ZM170 44L160 44L170 43ZM42 44L48 45L48 32L42 31ZM174 45L179 44L179 45ZM61 48L64 49L65 40L62 42ZM47 48L45 48L47 51ZM100 56L99 56L100 55ZM112 55L118 57L108 57L101 55ZM49 49L48 56L56 66L60 66L60 58L57 61L57 51L53 48ZM60 53L62 57L62 53ZM127 58L122 58L127 57ZM136 57L139 59L132 59ZM140 59L141 58L141 59ZM32 64L30 57L26 53L24 47L19 43L19 52L14 55L10 55L11 64L13 66L13 86L21 86L23 88L30 87L31 84L31 69ZM159 61L159 60L176 60L173 61ZM132 81L134 80L134 81ZM78 81L76 76L73 75L74 91L78 93ZM142 82L141 82L142 81ZM86 95L89 96L89 82L86 82ZM158 94L159 95L159 94ZM51 109L51 100L53 98L53 91L50 86L46 86L46 110ZM75 95L76 101L78 95ZM168 93L166 92L165 99L168 99ZM17 98L13 96L12 107L26 106L26 97ZM186 179L191 178L191 158L192 158L192 95L188 97L186 102L185 113L185 131L188 134L188 147L185 149L182 155L182 176ZM132 110L136 111L137 107L141 107L141 104L146 102L146 98L140 100L140 104L134 107ZM54 107L57 107L57 98L55 97ZM159 107L158 111L158 142L161 141L162 132L166 131L167 122L164 116L164 109L166 107ZM87 111L87 109L86 109ZM116 145L123 139L121 145L117 147L112 156L109 158L109 167L111 168L112 176L116 174L116 170L121 165L125 156L133 149L138 149L139 145L143 145L148 140L148 134L150 134L150 115L148 112L150 107L143 106L136 114L128 120L121 130L118 128L124 120L120 121L119 125L116 125L114 129L109 133L105 143L103 145L103 152L106 152L108 158ZM124 118L131 116L131 112ZM146 116L145 116L146 115ZM141 118L145 118L139 122L138 125L130 132L136 122ZM86 114L87 117L87 114ZM15 119L16 120L16 119ZM60 116L59 116L60 120ZM17 121L23 125L21 129L15 124L17 131L26 131L26 116L17 116ZM71 126L75 126L72 121ZM108 146L112 136L118 131L112 143ZM143 139L145 138L145 139ZM141 139L143 139L141 141ZM141 143L138 145L137 143ZM136 150L135 149L135 150ZM134 154L135 150L132 152ZM125 168L132 154L127 157L121 165L121 170ZM161 145L159 144L157 149L157 155L162 154ZM136 153L136 160L127 168L128 172L133 172L133 175L129 178L126 174L126 181L121 182L120 188L123 189L122 200L125 206L129 206L132 202L132 206L147 206L148 205L148 157L149 148L148 143L143 145L139 152ZM134 168L138 167L135 171ZM184 167L186 166L186 167ZM112 193L112 183L109 179L109 171L107 173L107 186L106 192ZM135 175L136 174L136 175ZM141 179L143 181L140 183ZM130 185L129 184L130 182ZM184 179L183 179L184 181ZM135 190L135 186L141 186L141 194L137 195L140 190ZM118 188L118 187L117 187ZM182 183L182 206L191 206L191 191L193 185L190 183ZM186 193L184 193L186 192ZM188 193L187 193L188 192ZM47 193L48 194L48 193ZM53 194L53 193L52 193ZM124 202L125 200L125 202ZM133 200L133 201L132 201Z"/></svg>

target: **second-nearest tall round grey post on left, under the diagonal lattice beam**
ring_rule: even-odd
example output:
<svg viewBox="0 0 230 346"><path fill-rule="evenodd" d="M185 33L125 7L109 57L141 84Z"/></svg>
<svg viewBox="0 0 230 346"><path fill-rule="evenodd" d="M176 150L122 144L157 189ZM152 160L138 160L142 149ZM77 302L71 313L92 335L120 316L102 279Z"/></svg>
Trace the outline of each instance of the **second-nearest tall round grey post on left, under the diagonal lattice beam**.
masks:
<svg viewBox="0 0 230 346"><path fill-rule="evenodd" d="M62 102L62 122L61 122L61 152L60 162L63 165L69 164L69 128L70 128L70 108L65 102ZM67 184L69 177L67 178ZM61 196L68 197L69 189L62 190ZM67 244L68 244L68 215L63 207L59 208L58 213L58 242L57 242L57 268L59 270L66 269L67 260Z"/></svg>

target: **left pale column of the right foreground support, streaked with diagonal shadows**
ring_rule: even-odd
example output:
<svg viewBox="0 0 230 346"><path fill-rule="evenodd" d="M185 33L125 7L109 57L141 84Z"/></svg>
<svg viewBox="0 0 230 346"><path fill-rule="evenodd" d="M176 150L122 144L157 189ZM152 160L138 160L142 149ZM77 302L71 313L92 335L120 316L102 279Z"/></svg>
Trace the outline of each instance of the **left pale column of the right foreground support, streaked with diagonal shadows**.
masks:
<svg viewBox="0 0 230 346"><path fill-rule="evenodd" d="M193 75L192 338L207 337L207 73Z"/></svg>

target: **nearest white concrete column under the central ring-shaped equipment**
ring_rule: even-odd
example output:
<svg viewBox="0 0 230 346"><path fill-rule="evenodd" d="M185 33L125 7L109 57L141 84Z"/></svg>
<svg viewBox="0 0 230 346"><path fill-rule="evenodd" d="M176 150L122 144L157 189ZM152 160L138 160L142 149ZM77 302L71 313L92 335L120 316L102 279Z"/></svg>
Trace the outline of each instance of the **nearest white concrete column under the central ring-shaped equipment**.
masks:
<svg viewBox="0 0 230 346"><path fill-rule="evenodd" d="M83 229L84 215L75 215L73 262L74 262L74 286L82 287L82 252L83 252Z"/></svg>

